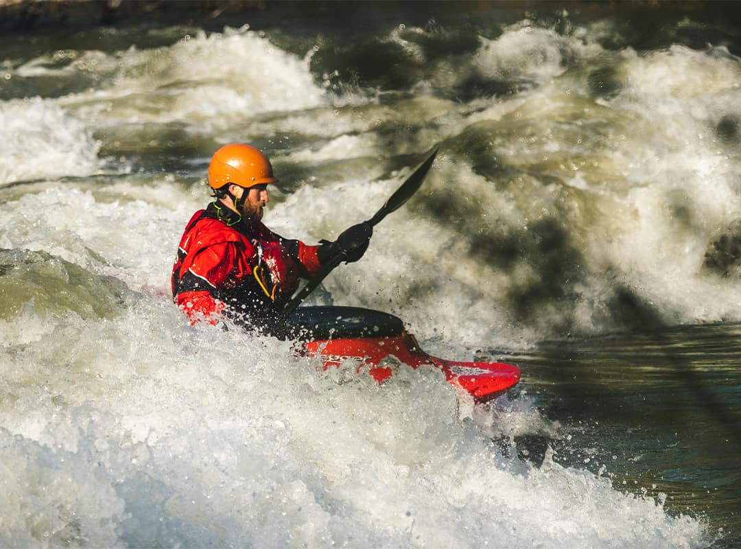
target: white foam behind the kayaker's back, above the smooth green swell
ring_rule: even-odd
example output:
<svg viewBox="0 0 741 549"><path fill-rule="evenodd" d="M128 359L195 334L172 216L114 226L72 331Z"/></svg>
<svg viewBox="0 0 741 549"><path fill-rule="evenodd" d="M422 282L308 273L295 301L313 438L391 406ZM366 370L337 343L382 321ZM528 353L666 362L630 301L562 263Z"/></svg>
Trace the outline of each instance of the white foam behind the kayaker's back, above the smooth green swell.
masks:
<svg viewBox="0 0 741 549"><path fill-rule="evenodd" d="M113 189L113 196L96 200L90 191L51 187L8 203L0 219L3 246L43 250L94 273L116 276L136 290L167 294L185 222L196 204L202 207L206 201L188 202L182 190L166 182L142 190L150 202L128 197L127 185ZM181 200L172 210L176 193ZM157 196L167 206L154 204ZM44 216L33 215L38 204L44 204Z"/></svg>

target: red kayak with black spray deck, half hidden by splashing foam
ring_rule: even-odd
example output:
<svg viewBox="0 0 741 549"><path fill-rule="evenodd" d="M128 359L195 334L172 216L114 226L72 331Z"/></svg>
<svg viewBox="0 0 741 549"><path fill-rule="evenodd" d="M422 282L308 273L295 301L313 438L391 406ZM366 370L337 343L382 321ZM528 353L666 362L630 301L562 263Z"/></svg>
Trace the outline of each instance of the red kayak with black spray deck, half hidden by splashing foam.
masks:
<svg viewBox="0 0 741 549"><path fill-rule="evenodd" d="M345 360L369 367L373 379L383 382L392 375L383 365L388 356L413 368L432 366L445 379L467 391L476 402L487 402L519 381L519 367L501 362L456 362L425 353L404 329L402 320L381 311L361 307L299 307L290 313L292 336L305 343L311 356L322 356L325 367Z"/></svg>

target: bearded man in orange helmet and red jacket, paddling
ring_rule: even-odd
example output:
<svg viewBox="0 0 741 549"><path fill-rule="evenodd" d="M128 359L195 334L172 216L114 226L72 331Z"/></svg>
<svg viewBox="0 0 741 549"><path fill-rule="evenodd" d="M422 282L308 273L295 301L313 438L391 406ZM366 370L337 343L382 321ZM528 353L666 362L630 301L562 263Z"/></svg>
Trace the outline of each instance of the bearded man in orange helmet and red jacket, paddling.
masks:
<svg viewBox="0 0 741 549"><path fill-rule="evenodd" d="M187 223L173 265L173 300L191 323L228 318L281 336L282 308L299 277L316 276L336 254L356 262L368 249L368 223L314 246L273 233L262 215L268 185L277 181L267 156L251 145L227 144L213 153L208 184L214 200Z"/></svg>

